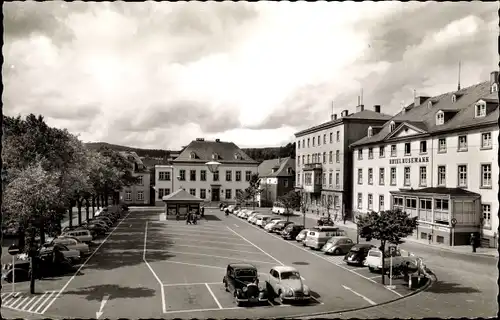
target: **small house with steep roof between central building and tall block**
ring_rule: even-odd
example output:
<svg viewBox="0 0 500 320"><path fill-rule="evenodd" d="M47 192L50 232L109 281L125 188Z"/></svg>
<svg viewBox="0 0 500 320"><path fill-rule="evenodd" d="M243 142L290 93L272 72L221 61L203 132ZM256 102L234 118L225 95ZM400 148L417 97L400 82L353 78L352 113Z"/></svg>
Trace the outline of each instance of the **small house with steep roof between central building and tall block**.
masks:
<svg viewBox="0 0 500 320"><path fill-rule="evenodd" d="M260 207L270 207L280 197L295 189L295 159L264 160L258 168L261 192Z"/></svg>

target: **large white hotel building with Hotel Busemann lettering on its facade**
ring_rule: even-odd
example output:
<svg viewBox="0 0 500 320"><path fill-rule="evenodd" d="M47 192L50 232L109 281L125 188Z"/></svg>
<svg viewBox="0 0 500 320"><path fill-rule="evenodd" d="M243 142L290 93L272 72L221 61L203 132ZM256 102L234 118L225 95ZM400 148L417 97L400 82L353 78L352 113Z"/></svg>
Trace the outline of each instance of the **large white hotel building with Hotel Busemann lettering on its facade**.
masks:
<svg viewBox="0 0 500 320"><path fill-rule="evenodd" d="M351 145L353 202L361 213L401 208L413 237L468 244L498 230L498 72L490 81L415 101Z"/></svg>

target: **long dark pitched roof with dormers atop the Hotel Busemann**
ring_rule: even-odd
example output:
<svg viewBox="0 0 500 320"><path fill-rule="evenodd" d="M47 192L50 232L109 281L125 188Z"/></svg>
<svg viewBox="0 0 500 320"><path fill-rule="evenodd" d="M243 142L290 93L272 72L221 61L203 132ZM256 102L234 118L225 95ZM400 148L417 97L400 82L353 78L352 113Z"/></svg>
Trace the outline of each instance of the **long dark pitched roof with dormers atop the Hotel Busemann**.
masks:
<svg viewBox="0 0 500 320"><path fill-rule="evenodd" d="M456 102L452 101L453 95L457 96ZM425 130L428 134L451 131L460 128L467 128L474 125L489 124L497 122L498 106L493 112L490 112L485 117L474 117L475 103L480 99L490 103L498 104L498 92L490 93L490 82L481 82L459 91L447 92L435 97L431 97L419 106L410 105L405 112L399 112L389 121L384 124L384 128L371 137L364 137L353 144L351 147L361 146L365 144L379 143L386 140L391 133L390 123L396 122L396 126L406 122L412 124L419 129ZM428 101L432 101L432 106L429 107ZM456 114L442 125L436 125L436 113L439 110L455 110Z"/></svg>

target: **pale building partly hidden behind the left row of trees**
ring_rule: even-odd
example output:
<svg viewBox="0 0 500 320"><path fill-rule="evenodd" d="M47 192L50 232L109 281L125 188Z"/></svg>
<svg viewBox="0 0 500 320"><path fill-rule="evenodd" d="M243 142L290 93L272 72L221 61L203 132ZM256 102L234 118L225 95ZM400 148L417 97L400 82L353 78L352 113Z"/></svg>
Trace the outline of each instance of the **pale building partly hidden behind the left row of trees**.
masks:
<svg viewBox="0 0 500 320"><path fill-rule="evenodd" d="M135 185L124 187L120 191L120 201L128 205L148 205L150 204L150 179L151 174L143 164L141 158L135 152L122 151L120 154L125 157L132 166L132 175L139 179Z"/></svg>

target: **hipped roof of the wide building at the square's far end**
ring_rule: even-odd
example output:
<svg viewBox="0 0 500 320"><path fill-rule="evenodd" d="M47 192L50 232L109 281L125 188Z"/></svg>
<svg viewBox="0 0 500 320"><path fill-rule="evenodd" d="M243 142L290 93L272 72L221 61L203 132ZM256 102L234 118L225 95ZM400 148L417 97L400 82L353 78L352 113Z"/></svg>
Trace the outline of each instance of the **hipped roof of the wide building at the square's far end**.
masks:
<svg viewBox="0 0 500 320"><path fill-rule="evenodd" d="M191 154L194 154L194 159ZM213 159L212 155L217 154L218 159ZM235 155L239 157L236 158ZM220 163L241 163L241 164L258 164L257 161L250 158L243 150L241 150L233 142L225 141L206 141L194 140L175 158L172 162L199 162L205 163L208 161L217 161Z"/></svg>

